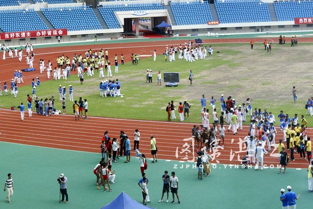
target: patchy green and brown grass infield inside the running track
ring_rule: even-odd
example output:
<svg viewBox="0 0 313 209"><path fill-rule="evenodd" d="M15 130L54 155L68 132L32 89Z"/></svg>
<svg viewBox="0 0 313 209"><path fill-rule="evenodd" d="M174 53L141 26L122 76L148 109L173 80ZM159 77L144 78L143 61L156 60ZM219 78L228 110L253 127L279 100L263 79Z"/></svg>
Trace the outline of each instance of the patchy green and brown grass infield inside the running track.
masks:
<svg viewBox="0 0 313 209"><path fill-rule="evenodd" d="M209 45L205 45L209 46ZM305 103L311 97L312 81L310 76L310 55L313 52L311 44L299 44L297 47L272 46L272 52L267 53L263 44L255 44L251 50L248 44L214 44L213 57L205 60L186 62L178 60L165 62L164 55L158 55L156 61L153 57L140 60L138 66L131 63L119 65L119 73L114 73L110 79L119 79L121 93L124 97L100 97L99 84L102 80L99 73L94 72L92 78L85 75L85 82L80 84L77 74L72 74L67 80L42 82L36 89L36 95L45 100L54 95L55 108L61 110L59 100L59 85L67 88L67 114L72 114L72 104L69 102L68 86L72 85L74 99L79 97L87 99L90 116L107 116L121 118L136 118L149 120L167 120L165 108L171 100L178 109L179 102L188 101L191 104L188 122L201 122L200 99L205 94L207 107L211 110L210 98L215 96L216 108L220 115L221 107L219 99L221 94L227 98L231 95L236 100L236 105L241 105L246 98L252 98L252 108L267 108L268 112L276 117L280 110L289 114L292 118L295 113L299 118L306 116ZM292 51L292 53L291 53ZM298 54L295 59L294 54ZM153 71L153 84L146 82L146 70ZM178 87L157 86L156 74L158 71L179 72L180 82ZM195 79L193 86L189 85L188 75L193 71ZM72 73L72 72L71 72ZM163 79L163 76L162 76ZM293 102L292 86L299 88L298 100ZM10 108L26 102L26 95L31 94L31 86L19 88L17 98L13 96L1 96L0 107ZM9 93L10 94L10 93ZM176 121L179 114L176 111ZM306 116L308 126L313 126L310 116ZM210 119L212 121L212 119ZM301 120L300 120L301 121ZM247 122L248 123L248 122Z"/></svg>

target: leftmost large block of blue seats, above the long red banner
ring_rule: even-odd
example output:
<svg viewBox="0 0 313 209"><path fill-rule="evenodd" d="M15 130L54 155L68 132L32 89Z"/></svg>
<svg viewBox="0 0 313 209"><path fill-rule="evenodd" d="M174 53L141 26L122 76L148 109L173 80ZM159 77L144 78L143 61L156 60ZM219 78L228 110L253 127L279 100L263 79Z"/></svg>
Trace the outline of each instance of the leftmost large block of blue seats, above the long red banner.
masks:
<svg viewBox="0 0 313 209"><path fill-rule="evenodd" d="M0 10L0 28L3 32L49 29L34 9Z"/></svg>

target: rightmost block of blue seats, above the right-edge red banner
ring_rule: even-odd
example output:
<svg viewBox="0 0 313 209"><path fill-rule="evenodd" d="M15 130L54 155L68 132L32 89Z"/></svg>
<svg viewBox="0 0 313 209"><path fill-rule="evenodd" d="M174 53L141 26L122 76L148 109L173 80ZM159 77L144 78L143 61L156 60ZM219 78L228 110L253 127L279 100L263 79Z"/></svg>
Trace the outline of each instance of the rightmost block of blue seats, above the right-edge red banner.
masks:
<svg viewBox="0 0 313 209"><path fill-rule="evenodd" d="M313 17L313 1L278 1L273 5L278 21Z"/></svg>

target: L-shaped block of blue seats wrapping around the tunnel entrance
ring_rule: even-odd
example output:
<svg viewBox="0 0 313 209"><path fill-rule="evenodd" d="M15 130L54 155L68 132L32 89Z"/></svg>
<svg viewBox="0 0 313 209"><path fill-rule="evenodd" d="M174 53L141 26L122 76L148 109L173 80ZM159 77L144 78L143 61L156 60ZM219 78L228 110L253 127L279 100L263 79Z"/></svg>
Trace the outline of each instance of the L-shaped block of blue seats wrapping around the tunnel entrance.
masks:
<svg viewBox="0 0 313 209"><path fill-rule="evenodd" d="M109 29L120 28L119 23L114 15L114 11L138 11L138 10L156 10L156 9L165 9L161 3L134 3L128 4L116 4L116 5L103 5L99 7L99 12L107 23Z"/></svg>

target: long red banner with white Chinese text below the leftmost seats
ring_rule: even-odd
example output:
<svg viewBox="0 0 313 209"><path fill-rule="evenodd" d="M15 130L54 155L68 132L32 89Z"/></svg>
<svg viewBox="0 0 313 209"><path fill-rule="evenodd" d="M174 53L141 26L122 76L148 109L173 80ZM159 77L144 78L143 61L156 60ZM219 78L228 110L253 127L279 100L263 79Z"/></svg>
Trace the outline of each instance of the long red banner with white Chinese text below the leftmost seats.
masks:
<svg viewBox="0 0 313 209"><path fill-rule="evenodd" d="M32 30L32 31L0 33L0 40L59 36L59 35L60 36L67 35L67 29Z"/></svg>

